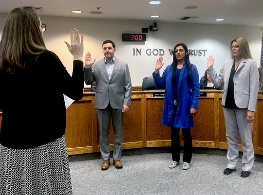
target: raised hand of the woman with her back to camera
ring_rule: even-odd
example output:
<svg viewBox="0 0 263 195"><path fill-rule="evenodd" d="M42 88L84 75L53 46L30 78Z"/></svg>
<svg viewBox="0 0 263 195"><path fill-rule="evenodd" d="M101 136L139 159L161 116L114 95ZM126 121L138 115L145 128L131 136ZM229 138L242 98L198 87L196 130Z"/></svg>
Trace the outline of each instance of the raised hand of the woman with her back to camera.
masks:
<svg viewBox="0 0 263 195"><path fill-rule="evenodd" d="M83 57L83 35L81 35L81 39L79 38L78 30L74 29L70 32L70 44L64 41L70 51L72 53L74 60L81 60Z"/></svg>

